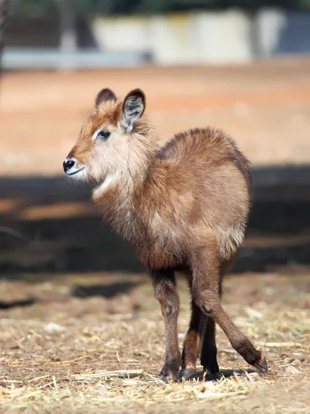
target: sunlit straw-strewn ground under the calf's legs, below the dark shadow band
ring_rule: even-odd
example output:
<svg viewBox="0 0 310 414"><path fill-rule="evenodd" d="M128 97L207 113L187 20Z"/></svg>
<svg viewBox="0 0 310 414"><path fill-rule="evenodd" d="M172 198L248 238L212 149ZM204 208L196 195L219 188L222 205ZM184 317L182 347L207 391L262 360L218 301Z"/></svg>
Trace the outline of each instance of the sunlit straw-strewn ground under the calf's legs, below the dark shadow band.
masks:
<svg viewBox="0 0 310 414"><path fill-rule="evenodd" d="M113 278L121 282L123 276ZM128 276L127 276L128 280ZM71 296L76 284L99 278L63 276L53 283L0 284L8 302L38 302L0 311L0 406L5 413L309 413L309 275L232 277L225 307L267 356L270 372L258 375L218 330L223 377L202 382L201 367L189 382L164 384L164 330L152 288L143 276L112 299ZM111 279L101 279L109 284ZM180 342L189 306L180 281Z"/></svg>

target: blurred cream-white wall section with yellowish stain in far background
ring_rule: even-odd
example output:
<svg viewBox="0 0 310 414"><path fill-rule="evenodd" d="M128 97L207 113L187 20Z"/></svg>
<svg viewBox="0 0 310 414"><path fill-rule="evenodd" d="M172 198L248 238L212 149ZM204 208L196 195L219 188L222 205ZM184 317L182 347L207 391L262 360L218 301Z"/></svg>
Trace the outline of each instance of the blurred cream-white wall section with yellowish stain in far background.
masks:
<svg viewBox="0 0 310 414"><path fill-rule="evenodd" d="M107 52L149 52L154 63L251 59L249 19L238 10L153 17L94 17L94 39Z"/></svg>

